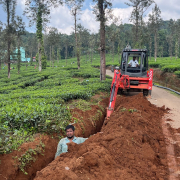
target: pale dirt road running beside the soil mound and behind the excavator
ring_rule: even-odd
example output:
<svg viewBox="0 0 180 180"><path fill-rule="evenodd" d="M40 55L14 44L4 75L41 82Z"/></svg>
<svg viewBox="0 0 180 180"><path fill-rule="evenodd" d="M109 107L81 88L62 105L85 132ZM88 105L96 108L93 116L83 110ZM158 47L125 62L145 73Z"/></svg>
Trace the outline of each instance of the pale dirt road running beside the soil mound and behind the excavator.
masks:
<svg viewBox="0 0 180 180"><path fill-rule="evenodd" d="M110 70L106 70L106 74L113 77L114 73ZM158 107L165 105L166 108L169 108L169 114L166 115L166 119L171 119L168 123L175 129L180 128L180 96L171 94L169 91L154 87L152 90L152 96L149 98L149 101L152 104L155 104Z"/></svg>

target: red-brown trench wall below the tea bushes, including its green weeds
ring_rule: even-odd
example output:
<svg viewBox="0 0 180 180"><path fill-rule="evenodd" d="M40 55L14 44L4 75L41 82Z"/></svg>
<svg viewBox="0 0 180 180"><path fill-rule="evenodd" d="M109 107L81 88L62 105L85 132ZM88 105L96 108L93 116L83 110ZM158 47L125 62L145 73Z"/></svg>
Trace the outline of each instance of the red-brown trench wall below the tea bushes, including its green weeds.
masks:
<svg viewBox="0 0 180 180"><path fill-rule="evenodd" d="M100 97L99 97L100 96ZM98 101L106 95L95 95L92 101ZM91 110L71 110L72 123L75 124L75 135L78 137L89 137L101 130L106 115L105 108L108 98L103 99L98 105L92 105ZM30 180L37 171L45 168L54 160L59 136L36 134L33 142L23 143L17 150L9 154L0 155L0 180ZM22 172L22 170L24 172Z"/></svg>

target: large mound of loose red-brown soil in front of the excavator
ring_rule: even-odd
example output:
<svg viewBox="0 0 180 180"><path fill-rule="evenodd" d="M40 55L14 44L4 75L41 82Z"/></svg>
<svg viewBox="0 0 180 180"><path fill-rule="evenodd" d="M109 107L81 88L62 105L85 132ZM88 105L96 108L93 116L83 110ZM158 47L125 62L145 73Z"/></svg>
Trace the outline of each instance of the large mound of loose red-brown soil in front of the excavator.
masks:
<svg viewBox="0 0 180 180"><path fill-rule="evenodd" d="M115 112L101 132L83 144L68 145L35 180L168 179L161 129L165 108L150 104L142 94L117 97Z"/></svg>

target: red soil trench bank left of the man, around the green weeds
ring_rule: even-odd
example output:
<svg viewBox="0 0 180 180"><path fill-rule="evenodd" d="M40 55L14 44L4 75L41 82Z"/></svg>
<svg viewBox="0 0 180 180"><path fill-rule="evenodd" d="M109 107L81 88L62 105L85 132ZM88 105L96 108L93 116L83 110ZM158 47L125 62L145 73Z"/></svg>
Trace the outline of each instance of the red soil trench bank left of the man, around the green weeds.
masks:
<svg viewBox="0 0 180 180"><path fill-rule="evenodd" d="M25 175L19 169L20 163L18 158L22 157L29 149L36 149L40 142L42 142L45 147L41 148L41 153L37 153L34 158L35 162L27 164L25 171L28 175ZM33 142L24 143L18 148L18 150L13 151L10 154L3 154L0 156L0 179L13 180L13 179L30 179L31 176L35 176L36 171L41 170L46 167L46 165L54 159L54 154L56 153L57 140L52 139L50 136L37 137Z"/></svg>

